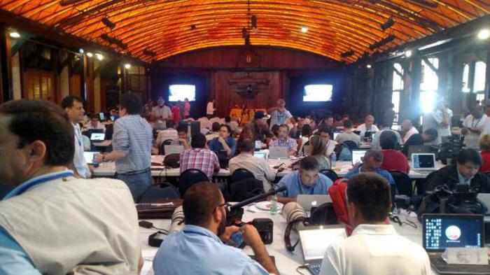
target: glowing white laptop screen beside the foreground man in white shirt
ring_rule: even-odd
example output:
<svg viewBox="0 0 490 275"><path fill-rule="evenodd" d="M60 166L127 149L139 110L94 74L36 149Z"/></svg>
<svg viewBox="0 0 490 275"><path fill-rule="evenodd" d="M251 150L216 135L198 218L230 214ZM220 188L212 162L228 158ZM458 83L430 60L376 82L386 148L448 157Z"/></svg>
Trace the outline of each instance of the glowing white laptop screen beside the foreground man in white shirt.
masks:
<svg viewBox="0 0 490 275"><path fill-rule="evenodd" d="M301 230L301 248L305 261L321 260L328 246L335 241L346 238L344 227L317 230Z"/></svg>

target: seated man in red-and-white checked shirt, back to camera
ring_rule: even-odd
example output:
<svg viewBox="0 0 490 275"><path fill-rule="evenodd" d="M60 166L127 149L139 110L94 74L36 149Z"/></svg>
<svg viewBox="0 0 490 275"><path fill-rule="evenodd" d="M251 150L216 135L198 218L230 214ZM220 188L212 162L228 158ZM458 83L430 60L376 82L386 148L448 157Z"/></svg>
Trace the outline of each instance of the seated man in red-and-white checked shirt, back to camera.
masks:
<svg viewBox="0 0 490 275"><path fill-rule="evenodd" d="M191 149L181 153L181 174L187 169L198 169L212 180L214 172L220 171L220 162L218 156L206 147L206 136L204 134L195 134L190 141Z"/></svg>

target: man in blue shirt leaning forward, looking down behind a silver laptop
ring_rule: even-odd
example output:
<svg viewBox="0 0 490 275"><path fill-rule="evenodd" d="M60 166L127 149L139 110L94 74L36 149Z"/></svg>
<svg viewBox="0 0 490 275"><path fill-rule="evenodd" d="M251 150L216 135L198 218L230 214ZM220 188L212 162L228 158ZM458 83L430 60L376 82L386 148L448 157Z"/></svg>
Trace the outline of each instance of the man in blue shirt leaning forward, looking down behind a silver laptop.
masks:
<svg viewBox="0 0 490 275"><path fill-rule="evenodd" d="M304 157L300 169L281 178L274 189L286 186L287 190L277 193L277 202L287 204L296 202L297 195L328 195L332 181L319 173L318 160L314 157Z"/></svg>

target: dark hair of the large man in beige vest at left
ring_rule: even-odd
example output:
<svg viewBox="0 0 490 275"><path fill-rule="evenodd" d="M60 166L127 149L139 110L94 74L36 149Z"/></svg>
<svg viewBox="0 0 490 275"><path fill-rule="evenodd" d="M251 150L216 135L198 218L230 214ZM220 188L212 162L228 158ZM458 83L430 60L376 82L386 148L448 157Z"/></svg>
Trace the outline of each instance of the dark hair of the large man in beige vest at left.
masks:
<svg viewBox="0 0 490 275"><path fill-rule="evenodd" d="M66 166L73 160L73 125L66 112L56 104L41 100L8 101L0 105L0 114L11 117L8 129L19 137L19 149L34 141L43 141L45 165Z"/></svg>

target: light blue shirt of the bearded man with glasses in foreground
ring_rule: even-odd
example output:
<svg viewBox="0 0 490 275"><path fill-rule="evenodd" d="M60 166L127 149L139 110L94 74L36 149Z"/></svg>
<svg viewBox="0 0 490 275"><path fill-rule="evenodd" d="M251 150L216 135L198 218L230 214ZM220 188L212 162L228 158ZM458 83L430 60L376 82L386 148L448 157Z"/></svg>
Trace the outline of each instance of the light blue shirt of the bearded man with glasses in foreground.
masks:
<svg viewBox="0 0 490 275"><path fill-rule="evenodd" d="M258 262L227 246L204 227L186 225L169 234L153 259L155 275L267 275Z"/></svg>

